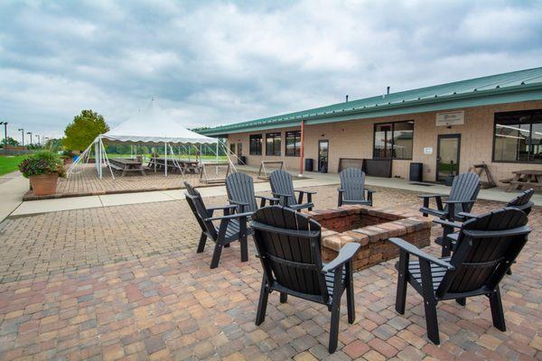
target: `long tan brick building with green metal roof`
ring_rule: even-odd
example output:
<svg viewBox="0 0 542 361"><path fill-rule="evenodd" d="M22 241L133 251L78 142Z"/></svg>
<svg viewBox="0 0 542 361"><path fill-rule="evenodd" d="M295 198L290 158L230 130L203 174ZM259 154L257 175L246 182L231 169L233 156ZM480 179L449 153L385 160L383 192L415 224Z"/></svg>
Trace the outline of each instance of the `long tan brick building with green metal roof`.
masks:
<svg viewBox="0 0 542 361"><path fill-rule="evenodd" d="M301 128L303 122L303 142ZM201 132L228 139L248 165L284 161L290 171L363 167L370 175L444 180L485 162L497 180L542 170L542 68L353 100ZM303 160L304 161L304 160ZM304 162L303 162L304 164Z"/></svg>

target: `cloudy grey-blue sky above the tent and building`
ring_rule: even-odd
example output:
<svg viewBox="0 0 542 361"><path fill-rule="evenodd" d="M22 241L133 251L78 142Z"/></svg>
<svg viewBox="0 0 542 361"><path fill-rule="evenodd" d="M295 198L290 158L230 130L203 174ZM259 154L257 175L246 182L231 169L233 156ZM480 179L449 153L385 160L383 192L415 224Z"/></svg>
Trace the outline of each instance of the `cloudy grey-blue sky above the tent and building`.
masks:
<svg viewBox="0 0 542 361"><path fill-rule="evenodd" d="M222 125L535 68L540 19L540 1L5 0L0 120L56 136L83 108L117 125L155 97Z"/></svg>

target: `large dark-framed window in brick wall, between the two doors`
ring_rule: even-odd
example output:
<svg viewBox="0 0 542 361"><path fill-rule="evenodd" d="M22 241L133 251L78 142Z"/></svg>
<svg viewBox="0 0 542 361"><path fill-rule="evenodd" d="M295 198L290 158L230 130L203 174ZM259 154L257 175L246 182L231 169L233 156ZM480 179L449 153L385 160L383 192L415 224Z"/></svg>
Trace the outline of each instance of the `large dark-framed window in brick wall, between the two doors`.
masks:
<svg viewBox="0 0 542 361"><path fill-rule="evenodd" d="M373 158L412 159L414 121L376 124Z"/></svg>

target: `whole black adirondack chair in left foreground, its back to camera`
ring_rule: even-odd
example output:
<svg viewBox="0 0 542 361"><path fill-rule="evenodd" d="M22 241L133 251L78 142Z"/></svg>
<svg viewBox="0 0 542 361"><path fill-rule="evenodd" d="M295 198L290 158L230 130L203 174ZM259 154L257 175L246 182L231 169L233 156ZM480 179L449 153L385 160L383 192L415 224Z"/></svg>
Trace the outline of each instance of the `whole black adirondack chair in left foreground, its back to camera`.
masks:
<svg viewBox="0 0 542 361"><path fill-rule="evenodd" d="M331 263L322 264L321 228L314 220L281 206L260 208L252 219L250 227L254 229L258 258L264 268L256 324L265 320L267 296L273 291L280 292L283 303L288 294L322 303L332 312L329 352L333 353L345 290L348 321L353 323L356 318L351 260L360 245L344 245Z"/></svg>

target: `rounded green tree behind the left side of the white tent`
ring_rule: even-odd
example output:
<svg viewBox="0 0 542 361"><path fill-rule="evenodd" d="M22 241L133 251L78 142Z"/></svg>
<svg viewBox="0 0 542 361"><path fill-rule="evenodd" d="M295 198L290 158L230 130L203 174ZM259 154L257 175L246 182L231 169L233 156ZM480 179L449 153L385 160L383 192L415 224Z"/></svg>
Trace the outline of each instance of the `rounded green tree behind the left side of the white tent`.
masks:
<svg viewBox="0 0 542 361"><path fill-rule="evenodd" d="M103 116L90 109L82 110L64 130L64 147L70 151L83 151L99 134L108 130Z"/></svg>

